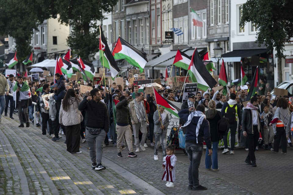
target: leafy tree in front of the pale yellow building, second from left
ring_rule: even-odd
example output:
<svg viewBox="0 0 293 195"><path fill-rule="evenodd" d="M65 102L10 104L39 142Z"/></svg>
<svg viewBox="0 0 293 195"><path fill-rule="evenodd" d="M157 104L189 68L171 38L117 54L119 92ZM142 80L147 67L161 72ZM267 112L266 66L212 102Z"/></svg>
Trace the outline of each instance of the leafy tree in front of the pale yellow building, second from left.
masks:
<svg viewBox="0 0 293 195"><path fill-rule="evenodd" d="M56 0L61 23L70 25L72 32L67 39L74 53L87 59L99 51L99 27L97 21L105 19L104 12L112 11L118 0Z"/></svg>

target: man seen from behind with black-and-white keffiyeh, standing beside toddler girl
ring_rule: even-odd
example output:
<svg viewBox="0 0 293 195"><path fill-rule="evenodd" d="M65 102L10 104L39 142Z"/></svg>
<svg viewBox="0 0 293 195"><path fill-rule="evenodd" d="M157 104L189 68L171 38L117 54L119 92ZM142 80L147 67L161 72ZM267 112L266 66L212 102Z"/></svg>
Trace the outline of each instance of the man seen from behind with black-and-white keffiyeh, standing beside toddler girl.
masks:
<svg viewBox="0 0 293 195"><path fill-rule="evenodd" d="M210 134L210 125L204 115L204 106L198 105L195 108L190 107L178 112L180 119L187 121L183 127L186 127L185 134L185 149L190 160L188 168L188 189L192 190L207 190L206 187L199 184L198 168L201 164L201 157L204 151L203 142L205 141L209 154L212 155L212 141ZM190 115L187 113L191 112Z"/></svg>

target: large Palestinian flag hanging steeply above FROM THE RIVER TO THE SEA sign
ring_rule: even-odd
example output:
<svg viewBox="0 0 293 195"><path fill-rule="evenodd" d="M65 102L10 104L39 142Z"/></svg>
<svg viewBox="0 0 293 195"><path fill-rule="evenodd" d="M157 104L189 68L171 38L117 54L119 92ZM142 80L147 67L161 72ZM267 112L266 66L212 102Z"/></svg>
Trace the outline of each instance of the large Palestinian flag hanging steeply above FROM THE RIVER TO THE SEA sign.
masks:
<svg viewBox="0 0 293 195"><path fill-rule="evenodd" d="M204 63L201 61L197 49L195 48L188 67L188 73L193 83L197 83L197 87L201 90L208 90L213 88L217 82L205 68Z"/></svg>

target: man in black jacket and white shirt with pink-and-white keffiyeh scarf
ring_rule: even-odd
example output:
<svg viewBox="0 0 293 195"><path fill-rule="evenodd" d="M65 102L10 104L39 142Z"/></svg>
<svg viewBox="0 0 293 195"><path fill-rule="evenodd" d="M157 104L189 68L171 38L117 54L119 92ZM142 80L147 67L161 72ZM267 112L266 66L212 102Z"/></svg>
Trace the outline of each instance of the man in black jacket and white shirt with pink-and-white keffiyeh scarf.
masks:
<svg viewBox="0 0 293 195"><path fill-rule="evenodd" d="M242 130L243 136L246 137L248 143L248 155L244 162L252 167L256 167L255 148L259 140L259 131L261 129L259 109L257 107L257 97L252 97L250 102L244 108L242 113ZM251 163L252 161L252 163Z"/></svg>

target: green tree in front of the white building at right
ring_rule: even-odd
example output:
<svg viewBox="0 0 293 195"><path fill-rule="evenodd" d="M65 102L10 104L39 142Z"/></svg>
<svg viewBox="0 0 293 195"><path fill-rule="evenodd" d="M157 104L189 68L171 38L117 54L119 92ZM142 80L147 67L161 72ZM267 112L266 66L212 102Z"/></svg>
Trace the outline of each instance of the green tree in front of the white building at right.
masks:
<svg viewBox="0 0 293 195"><path fill-rule="evenodd" d="M278 83L282 82L284 44L293 37L292 0L248 0L242 5L240 26L251 21L258 30L256 42L265 44L269 52L275 47L278 58Z"/></svg>

